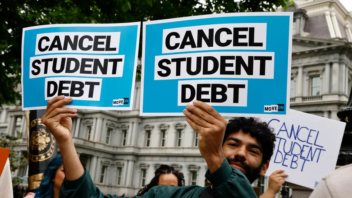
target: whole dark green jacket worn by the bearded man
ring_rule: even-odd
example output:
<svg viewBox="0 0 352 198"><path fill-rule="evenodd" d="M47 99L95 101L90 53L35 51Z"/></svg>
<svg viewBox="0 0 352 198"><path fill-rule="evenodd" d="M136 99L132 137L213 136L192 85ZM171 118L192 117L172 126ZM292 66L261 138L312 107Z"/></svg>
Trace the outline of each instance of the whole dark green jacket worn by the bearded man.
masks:
<svg viewBox="0 0 352 198"><path fill-rule="evenodd" d="M205 177L213 185L216 198L257 198L253 187L238 169L231 168L227 160L219 169L210 174L209 169ZM155 186L142 197L136 198L199 198L209 186ZM104 195L100 192L90 178L89 172L84 168L83 175L73 181L66 178L62 182L59 198L119 198L116 195Z"/></svg>

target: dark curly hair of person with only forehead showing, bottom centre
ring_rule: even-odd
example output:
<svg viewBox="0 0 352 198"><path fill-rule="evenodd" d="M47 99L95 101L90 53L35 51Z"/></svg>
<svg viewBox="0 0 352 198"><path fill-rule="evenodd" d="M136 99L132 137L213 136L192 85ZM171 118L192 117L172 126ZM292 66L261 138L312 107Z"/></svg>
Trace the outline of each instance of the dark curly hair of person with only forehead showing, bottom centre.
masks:
<svg viewBox="0 0 352 198"><path fill-rule="evenodd" d="M160 175L163 174L174 174L177 177L178 185L177 186L184 186L184 175L181 172L178 172L174 167L169 165L163 164L160 165L158 169L155 171L154 178L150 181L149 184L145 185L144 188L140 189L137 193L137 196L142 196L144 193L149 191L150 188L157 186Z"/></svg>

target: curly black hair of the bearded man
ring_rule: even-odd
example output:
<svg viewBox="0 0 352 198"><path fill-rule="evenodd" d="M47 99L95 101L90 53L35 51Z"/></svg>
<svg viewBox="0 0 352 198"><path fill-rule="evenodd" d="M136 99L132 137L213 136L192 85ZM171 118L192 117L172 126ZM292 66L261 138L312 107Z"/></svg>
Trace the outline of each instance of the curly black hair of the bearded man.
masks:
<svg viewBox="0 0 352 198"><path fill-rule="evenodd" d="M261 122L252 117L235 117L228 121L222 145L224 145L230 134L237 133L239 131L250 134L251 137L256 138L256 140L261 144L263 150L262 164L266 161L270 161L271 156L274 154L276 141L273 128L270 128L266 122Z"/></svg>

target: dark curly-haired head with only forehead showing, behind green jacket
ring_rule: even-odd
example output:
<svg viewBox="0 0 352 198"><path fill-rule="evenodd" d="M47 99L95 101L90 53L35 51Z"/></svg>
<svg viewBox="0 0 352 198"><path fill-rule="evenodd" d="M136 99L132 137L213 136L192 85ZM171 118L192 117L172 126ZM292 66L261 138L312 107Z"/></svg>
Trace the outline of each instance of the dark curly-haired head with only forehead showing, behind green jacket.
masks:
<svg viewBox="0 0 352 198"><path fill-rule="evenodd" d="M183 178L183 173L178 172L175 168L166 164L160 165L156 169L153 179L137 193L137 196L142 196L154 186L184 186Z"/></svg>

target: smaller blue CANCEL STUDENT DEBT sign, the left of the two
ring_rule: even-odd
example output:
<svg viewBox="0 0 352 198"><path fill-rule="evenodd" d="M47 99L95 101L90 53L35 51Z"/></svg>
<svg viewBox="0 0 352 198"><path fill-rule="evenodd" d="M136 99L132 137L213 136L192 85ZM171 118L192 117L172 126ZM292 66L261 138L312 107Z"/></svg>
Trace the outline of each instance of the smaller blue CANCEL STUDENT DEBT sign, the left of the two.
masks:
<svg viewBox="0 0 352 198"><path fill-rule="evenodd" d="M140 22L27 27L22 37L22 110L132 110Z"/></svg>

